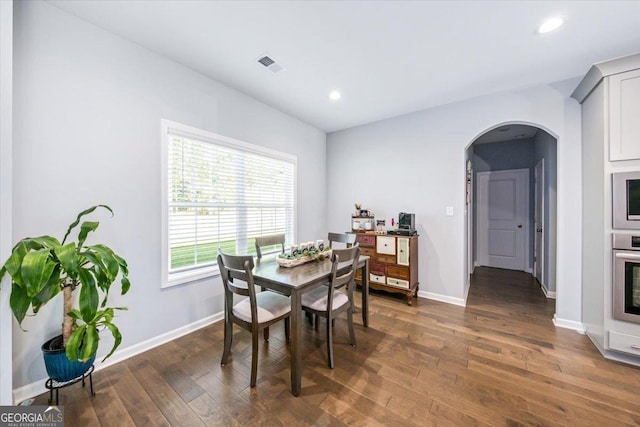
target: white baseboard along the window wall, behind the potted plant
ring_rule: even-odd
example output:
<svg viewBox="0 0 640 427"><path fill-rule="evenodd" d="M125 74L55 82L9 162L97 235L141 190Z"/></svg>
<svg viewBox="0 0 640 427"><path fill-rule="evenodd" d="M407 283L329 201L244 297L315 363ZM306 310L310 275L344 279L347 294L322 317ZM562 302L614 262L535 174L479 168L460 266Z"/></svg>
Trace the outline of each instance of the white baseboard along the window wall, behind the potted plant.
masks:
<svg viewBox="0 0 640 427"><path fill-rule="evenodd" d="M169 331L162 335L158 335L157 337L150 338L141 343L134 344L125 349L117 350L104 363L101 363L100 361L96 360L95 370L99 371L101 369L114 365L118 362L122 362L123 360L129 359L140 353L144 353L145 351L151 350L152 348L158 347L162 344L166 344L169 341L172 341L174 339L180 338L181 336L190 334L191 332L197 331L198 329L202 329L206 326L211 325L212 323L218 322L223 319L224 319L224 312L219 312L211 316L205 317L204 319L200 319L196 322L190 323L188 325L181 326L177 329L174 329L173 331ZM42 378L41 380L38 380L31 384L27 384L22 387L14 389L13 390L14 405L17 405L20 402L26 399L29 399L31 397L38 396L42 393L45 393L47 391L47 389L44 386L46 381L47 381L47 378Z"/></svg>

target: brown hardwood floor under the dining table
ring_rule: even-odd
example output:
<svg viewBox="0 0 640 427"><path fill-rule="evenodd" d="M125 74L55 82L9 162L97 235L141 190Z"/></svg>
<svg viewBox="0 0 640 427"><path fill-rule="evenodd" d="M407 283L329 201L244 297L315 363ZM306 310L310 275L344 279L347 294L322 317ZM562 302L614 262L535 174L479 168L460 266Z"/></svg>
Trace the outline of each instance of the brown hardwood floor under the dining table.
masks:
<svg viewBox="0 0 640 427"><path fill-rule="evenodd" d="M373 292L357 348L336 322L333 370L324 328L306 323L298 398L281 325L251 389L250 335L235 329L221 367L217 323L96 372L93 398L80 384L62 389L60 403L67 426L640 425L640 369L555 328L554 306L528 274L477 268L466 308Z"/></svg>

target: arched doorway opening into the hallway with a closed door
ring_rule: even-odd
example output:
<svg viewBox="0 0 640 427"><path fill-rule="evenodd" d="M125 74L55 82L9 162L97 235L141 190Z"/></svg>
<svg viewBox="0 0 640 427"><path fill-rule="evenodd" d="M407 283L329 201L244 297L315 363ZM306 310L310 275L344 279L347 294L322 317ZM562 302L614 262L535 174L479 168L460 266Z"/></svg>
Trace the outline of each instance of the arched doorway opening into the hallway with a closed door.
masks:
<svg viewBox="0 0 640 427"><path fill-rule="evenodd" d="M524 271L555 298L557 138L502 123L472 141L465 160L468 271Z"/></svg>

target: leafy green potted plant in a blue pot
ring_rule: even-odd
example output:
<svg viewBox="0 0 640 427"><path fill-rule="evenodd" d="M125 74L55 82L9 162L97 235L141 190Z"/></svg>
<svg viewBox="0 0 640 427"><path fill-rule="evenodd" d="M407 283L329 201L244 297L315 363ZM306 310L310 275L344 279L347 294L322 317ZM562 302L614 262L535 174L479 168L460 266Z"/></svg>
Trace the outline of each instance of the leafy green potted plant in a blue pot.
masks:
<svg viewBox="0 0 640 427"><path fill-rule="evenodd" d="M47 373L60 382L79 377L93 364L100 329L108 329L114 338L113 347L104 359L111 356L122 341L113 318L115 310L126 308L106 304L111 285L118 276L122 295L129 290L127 263L105 245L86 244L87 235L98 228L98 222L80 224L83 216L98 208L106 209L113 216L109 206L96 205L78 214L62 241L51 236L22 239L0 269L0 280L5 273L11 277L9 305L21 328L29 308L35 315L44 304L63 294L62 335L42 346ZM78 225L77 241L67 241ZM77 296L74 291L78 291Z"/></svg>

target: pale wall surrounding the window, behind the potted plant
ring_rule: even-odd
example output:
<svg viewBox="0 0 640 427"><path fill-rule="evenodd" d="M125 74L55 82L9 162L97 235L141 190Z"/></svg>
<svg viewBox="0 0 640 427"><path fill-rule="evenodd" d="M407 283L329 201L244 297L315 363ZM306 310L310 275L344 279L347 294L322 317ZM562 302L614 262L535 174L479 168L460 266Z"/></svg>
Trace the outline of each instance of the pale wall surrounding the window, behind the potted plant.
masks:
<svg viewBox="0 0 640 427"><path fill-rule="evenodd" d="M113 298L129 307L117 319L123 351L223 303L218 278L160 289L160 119L298 156L297 238L326 233L323 132L48 3L15 11L13 237L61 237L81 209L114 209L97 216L94 242L129 262L131 291ZM60 311L52 302L29 332L14 327L15 387L44 384L40 345Z"/></svg>

